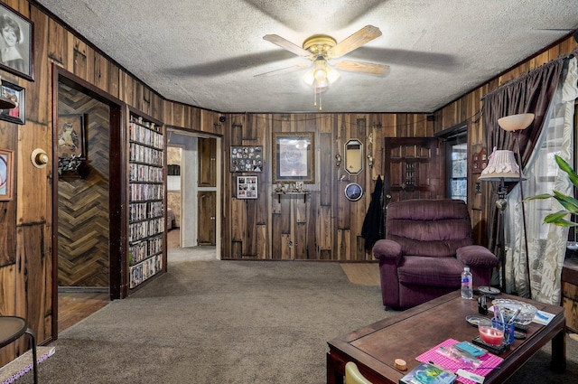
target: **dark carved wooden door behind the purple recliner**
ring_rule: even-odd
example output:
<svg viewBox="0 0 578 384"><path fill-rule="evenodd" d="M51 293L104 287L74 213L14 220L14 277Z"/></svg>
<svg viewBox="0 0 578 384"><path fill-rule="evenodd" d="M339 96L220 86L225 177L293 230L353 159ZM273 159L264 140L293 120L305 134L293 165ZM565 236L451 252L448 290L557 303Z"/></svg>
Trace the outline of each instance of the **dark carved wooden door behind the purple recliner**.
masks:
<svg viewBox="0 0 578 384"><path fill-rule="evenodd" d="M383 164L384 194L389 201L445 197L443 145L439 139L386 137Z"/></svg>

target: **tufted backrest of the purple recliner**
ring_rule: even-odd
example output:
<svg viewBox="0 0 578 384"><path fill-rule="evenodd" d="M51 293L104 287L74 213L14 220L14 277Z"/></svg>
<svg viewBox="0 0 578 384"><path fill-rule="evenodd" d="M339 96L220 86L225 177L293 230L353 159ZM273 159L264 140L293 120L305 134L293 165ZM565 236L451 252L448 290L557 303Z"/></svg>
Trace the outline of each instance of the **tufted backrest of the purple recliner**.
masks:
<svg viewBox="0 0 578 384"><path fill-rule="evenodd" d="M415 199L387 205L386 239L401 245L404 255L450 257L473 244L464 201Z"/></svg>

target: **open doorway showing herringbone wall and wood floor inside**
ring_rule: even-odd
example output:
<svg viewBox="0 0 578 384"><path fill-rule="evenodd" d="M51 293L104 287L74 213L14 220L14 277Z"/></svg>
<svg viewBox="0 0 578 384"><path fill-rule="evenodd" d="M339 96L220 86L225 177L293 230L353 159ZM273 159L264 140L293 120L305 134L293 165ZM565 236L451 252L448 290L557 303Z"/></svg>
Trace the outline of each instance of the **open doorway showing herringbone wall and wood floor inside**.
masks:
<svg viewBox="0 0 578 384"><path fill-rule="evenodd" d="M53 335L119 298L123 106L54 67ZM113 192L114 191L114 192Z"/></svg>

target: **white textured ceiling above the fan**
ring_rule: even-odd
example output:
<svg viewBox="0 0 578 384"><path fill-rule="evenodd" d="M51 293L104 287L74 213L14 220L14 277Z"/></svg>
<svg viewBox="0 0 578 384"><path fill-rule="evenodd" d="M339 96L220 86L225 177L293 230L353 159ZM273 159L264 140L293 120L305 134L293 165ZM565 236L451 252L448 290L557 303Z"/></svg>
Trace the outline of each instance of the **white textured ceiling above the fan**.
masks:
<svg viewBox="0 0 578 384"><path fill-rule="evenodd" d="M266 42L340 42L383 33L345 60L387 64L376 77L340 70L325 112L433 112L578 28L575 0L38 0L164 98L219 112L316 112L298 70L309 62Z"/></svg>

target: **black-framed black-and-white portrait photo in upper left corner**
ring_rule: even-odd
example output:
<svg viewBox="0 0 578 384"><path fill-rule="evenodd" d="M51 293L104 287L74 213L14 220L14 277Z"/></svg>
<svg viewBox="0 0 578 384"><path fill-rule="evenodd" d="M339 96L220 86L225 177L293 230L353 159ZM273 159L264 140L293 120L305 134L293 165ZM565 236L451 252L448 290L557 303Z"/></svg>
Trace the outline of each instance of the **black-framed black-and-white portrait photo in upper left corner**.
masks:
<svg viewBox="0 0 578 384"><path fill-rule="evenodd" d="M33 81L33 22L0 3L0 31L0 70Z"/></svg>

